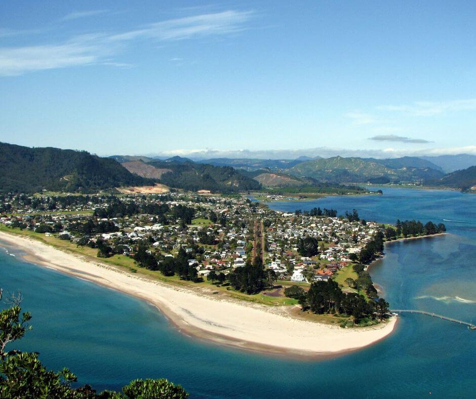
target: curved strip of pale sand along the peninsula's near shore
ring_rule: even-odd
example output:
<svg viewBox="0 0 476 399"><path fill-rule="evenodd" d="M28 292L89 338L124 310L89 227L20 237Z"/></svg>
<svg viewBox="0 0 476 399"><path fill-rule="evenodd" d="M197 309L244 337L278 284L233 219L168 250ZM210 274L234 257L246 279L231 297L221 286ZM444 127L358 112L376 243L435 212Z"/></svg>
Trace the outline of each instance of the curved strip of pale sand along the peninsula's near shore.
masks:
<svg viewBox="0 0 476 399"><path fill-rule="evenodd" d="M334 357L375 344L391 334L397 318L343 329L291 317L285 306L265 306L175 287L120 268L63 252L30 237L0 232L0 240L31 263L83 278L155 306L181 333L207 342L297 358ZM315 349L314 349L315 348Z"/></svg>

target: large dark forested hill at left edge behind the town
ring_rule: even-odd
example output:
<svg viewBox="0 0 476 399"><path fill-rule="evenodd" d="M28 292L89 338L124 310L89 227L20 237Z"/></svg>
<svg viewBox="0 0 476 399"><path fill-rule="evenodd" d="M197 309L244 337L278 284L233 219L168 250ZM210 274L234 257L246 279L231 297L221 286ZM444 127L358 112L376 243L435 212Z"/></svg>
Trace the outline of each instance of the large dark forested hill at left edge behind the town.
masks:
<svg viewBox="0 0 476 399"><path fill-rule="evenodd" d="M95 192L152 183L130 173L114 159L86 151L0 143L0 192Z"/></svg>

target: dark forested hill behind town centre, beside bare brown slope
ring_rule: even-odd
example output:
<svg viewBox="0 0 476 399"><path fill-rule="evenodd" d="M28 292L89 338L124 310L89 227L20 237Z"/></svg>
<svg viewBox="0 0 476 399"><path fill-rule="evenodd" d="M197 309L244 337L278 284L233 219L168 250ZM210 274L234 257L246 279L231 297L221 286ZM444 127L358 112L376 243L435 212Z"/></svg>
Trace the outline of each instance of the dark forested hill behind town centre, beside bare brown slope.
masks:
<svg viewBox="0 0 476 399"><path fill-rule="evenodd" d="M143 164L143 168L137 163L123 164L131 172L142 176L152 176L150 167L155 168L156 176L161 183L173 188L185 190L210 190L214 192L239 192L257 190L261 185L256 180L244 176L231 167L197 164L192 161L174 162L153 161ZM146 174L147 173L147 174Z"/></svg>

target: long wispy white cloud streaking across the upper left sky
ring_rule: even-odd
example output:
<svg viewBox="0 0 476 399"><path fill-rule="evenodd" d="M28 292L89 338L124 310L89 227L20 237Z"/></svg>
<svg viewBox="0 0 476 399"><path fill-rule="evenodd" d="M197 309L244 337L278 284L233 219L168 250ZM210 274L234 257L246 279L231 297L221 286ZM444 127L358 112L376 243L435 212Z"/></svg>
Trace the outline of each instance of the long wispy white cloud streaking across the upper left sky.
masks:
<svg viewBox="0 0 476 399"><path fill-rule="evenodd" d="M96 10L94 13L103 11ZM91 13L76 12L66 17L82 18ZM125 63L112 58L135 41L167 42L227 35L246 29L246 23L253 15L251 11L229 10L160 21L119 33L89 33L74 36L63 43L0 47L0 75L21 75L37 70L93 64L124 66Z"/></svg>

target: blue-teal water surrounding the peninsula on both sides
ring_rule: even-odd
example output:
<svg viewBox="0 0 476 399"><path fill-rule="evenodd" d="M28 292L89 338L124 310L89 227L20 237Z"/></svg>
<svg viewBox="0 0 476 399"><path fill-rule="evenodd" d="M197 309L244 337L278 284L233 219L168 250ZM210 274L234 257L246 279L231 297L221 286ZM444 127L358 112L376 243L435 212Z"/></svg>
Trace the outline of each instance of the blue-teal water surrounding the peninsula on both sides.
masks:
<svg viewBox="0 0 476 399"><path fill-rule="evenodd" d="M476 195L388 188L383 195L271 203L294 211L357 209L367 220L443 222L449 235L392 243L371 268L392 308L476 322ZM446 219L446 221L443 221ZM383 341L321 361L289 360L186 337L147 303L22 261L0 249L0 287L21 290L33 330L18 348L80 383L120 389L166 377L192 397L474 397L476 331L425 315L401 317ZM9 253L17 256L12 257Z"/></svg>

